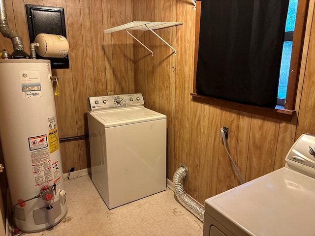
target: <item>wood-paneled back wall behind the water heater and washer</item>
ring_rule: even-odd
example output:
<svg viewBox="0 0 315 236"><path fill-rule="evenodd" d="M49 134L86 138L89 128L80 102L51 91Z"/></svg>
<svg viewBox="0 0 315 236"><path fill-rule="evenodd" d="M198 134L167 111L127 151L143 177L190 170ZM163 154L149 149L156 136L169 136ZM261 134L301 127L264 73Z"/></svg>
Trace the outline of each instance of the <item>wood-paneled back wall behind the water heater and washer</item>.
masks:
<svg viewBox="0 0 315 236"><path fill-rule="evenodd" d="M126 33L104 34L104 29L130 22L131 0L5 0L11 29L23 38L27 53L29 35L25 4L64 8L70 44L69 69L55 69L60 96L55 97L59 137L88 133L88 97L134 92L133 41ZM0 49L13 51L11 41L0 35ZM63 172L90 166L89 140L60 145Z"/></svg>

